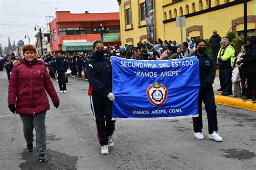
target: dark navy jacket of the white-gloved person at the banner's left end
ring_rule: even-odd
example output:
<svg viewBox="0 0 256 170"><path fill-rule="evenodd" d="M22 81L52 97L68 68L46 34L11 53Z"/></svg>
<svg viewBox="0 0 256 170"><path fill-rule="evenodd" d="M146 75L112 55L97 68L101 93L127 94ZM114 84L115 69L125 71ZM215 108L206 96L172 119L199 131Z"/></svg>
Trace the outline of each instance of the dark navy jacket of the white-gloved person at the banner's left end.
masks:
<svg viewBox="0 0 256 170"><path fill-rule="evenodd" d="M103 56L92 53L86 62L86 76L92 87L91 95L106 97L112 91L111 62Z"/></svg>

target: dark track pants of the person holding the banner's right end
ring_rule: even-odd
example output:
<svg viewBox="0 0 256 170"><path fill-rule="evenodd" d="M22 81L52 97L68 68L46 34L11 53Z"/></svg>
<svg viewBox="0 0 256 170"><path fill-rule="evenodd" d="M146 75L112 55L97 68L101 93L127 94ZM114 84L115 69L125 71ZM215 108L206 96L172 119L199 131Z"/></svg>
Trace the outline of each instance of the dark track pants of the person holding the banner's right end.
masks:
<svg viewBox="0 0 256 170"><path fill-rule="evenodd" d="M203 119L202 119L202 102L205 104L205 110L208 119L208 133L212 134L213 131L218 131L218 121L217 121L217 111L215 105L215 98L212 88L208 88L205 91L199 92L198 96L198 117L194 117L193 126L194 132L202 132L203 129Z"/></svg>

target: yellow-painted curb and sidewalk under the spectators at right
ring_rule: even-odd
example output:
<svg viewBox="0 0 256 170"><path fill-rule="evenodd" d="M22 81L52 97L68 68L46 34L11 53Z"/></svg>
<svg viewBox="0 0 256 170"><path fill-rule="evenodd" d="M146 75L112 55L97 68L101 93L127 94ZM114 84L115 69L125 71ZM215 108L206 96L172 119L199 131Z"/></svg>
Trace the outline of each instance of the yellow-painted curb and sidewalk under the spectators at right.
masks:
<svg viewBox="0 0 256 170"><path fill-rule="evenodd" d="M214 83L213 83L213 91L215 94L215 103L221 105L228 105L230 107L247 109L256 111L256 103L252 103L251 101L242 101L241 98L234 98L232 96L223 96L221 95L221 91L217 91L220 88L220 81L219 77L215 76ZM232 87L232 89L234 89Z"/></svg>

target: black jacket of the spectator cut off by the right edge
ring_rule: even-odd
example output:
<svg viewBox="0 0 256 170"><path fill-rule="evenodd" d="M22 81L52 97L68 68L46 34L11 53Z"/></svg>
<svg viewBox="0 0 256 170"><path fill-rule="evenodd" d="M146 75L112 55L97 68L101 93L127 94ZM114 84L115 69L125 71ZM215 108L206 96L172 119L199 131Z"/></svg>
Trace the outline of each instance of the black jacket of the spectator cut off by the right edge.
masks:
<svg viewBox="0 0 256 170"><path fill-rule="evenodd" d="M244 62L247 73L256 73L256 37L251 36L248 37L247 40L250 41L251 44L246 47L246 54L242 62Z"/></svg>

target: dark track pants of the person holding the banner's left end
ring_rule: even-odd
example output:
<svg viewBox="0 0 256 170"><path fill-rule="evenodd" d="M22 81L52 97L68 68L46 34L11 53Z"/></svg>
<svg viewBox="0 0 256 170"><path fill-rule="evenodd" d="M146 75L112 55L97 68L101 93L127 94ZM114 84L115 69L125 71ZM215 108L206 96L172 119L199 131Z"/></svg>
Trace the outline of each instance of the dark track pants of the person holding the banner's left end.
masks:
<svg viewBox="0 0 256 170"><path fill-rule="evenodd" d="M114 132L112 119L112 102L107 97L91 96L91 109L96 120L98 140L100 146L108 145L109 139Z"/></svg>

